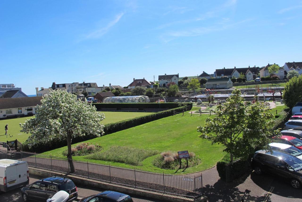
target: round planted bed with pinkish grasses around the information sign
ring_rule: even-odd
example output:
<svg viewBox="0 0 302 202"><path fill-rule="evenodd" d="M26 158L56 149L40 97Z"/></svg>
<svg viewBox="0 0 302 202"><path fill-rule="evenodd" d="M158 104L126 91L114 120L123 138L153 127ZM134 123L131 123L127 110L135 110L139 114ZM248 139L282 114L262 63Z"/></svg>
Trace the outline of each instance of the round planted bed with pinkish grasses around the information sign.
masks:
<svg viewBox="0 0 302 202"><path fill-rule="evenodd" d="M188 167L197 166L201 163L201 160L194 154L194 152L189 153L190 158L188 159ZM187 166L187 160L181 159L182 167L185 168ZM173 153L170 151L165 151L160 154L160 156L156 157L152 164L156 167L162 169L178 169L179 168L179 157L177 153Z"/></svg>

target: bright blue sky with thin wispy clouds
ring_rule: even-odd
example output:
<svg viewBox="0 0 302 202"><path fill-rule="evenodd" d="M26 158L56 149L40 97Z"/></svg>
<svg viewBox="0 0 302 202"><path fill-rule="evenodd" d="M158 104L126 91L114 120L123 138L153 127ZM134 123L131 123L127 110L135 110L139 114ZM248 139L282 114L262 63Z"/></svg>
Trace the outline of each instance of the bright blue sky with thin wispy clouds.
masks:
<svg viewBox="0 0 302 202"><path fill-rule="evenodd" d="M0 83L133 78L302 61L302 1L1 1Z"/></svg>

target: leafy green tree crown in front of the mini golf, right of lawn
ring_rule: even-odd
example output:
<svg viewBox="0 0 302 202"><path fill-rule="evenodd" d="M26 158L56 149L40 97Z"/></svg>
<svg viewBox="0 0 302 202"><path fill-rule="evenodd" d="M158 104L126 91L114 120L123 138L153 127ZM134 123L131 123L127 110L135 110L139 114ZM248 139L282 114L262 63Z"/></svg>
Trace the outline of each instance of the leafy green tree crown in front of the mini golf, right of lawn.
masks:
<svg viewBox="0 0 302 202"><path fill-rule="evenodd" d="M212 144L222 144L223 151L233 157L247 158L254 153L255 147L268 148L270 137L276 131L271 129L273 115L270 109L260 103L245 107L244 99L239 89L232 92L230 98L216 111L217 116L207 118L204 126L197 131L200 137Z"/></svg>

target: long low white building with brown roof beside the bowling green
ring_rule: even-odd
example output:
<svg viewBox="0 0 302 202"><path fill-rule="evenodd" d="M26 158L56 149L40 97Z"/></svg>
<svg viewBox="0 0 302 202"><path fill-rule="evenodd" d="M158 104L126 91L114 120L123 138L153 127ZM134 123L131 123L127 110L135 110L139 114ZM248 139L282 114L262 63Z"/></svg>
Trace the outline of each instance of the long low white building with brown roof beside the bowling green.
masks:
<svg viewBox="0 0 302 202"><path fill-rule="evenodd" d="M0 99L0 118L11 118L36 114L36 106L42 97Z"/></svg>

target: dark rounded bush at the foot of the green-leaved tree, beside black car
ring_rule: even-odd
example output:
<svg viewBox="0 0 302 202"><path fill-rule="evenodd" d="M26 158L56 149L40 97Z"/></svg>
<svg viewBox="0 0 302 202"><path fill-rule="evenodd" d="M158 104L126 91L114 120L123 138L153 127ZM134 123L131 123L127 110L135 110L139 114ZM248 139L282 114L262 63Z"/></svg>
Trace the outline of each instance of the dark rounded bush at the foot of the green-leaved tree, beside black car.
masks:
<svg viewBox="0 0 302 202"><path fill-rule="evenodd" d="M230 181L241 177L246 172L251 170L249 162L233 158L233 164L230 165ZM216 168L218 175L222 180L226 180L226 164L230 163L230 154L226 154L220 161L217 162Z"/></svg>

